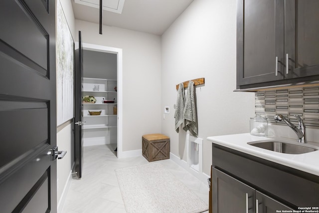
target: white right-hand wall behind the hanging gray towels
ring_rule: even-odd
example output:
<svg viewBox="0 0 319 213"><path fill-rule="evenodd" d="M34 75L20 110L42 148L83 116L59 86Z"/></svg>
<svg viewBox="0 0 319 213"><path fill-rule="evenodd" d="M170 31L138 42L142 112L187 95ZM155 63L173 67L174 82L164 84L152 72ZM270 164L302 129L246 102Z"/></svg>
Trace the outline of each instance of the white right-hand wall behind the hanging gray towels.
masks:
<svg viewBox="0 0 319 213"><path fill-rule="evenodd" d="M198 137L203 143L203 172L210 174L208 136L249 132L254 93L236 88L236 0L194 0L162 35L162 133L170 137L170 152L186 161L185 132L174 130L175 85L204 77L196 88Z"/></svg>

